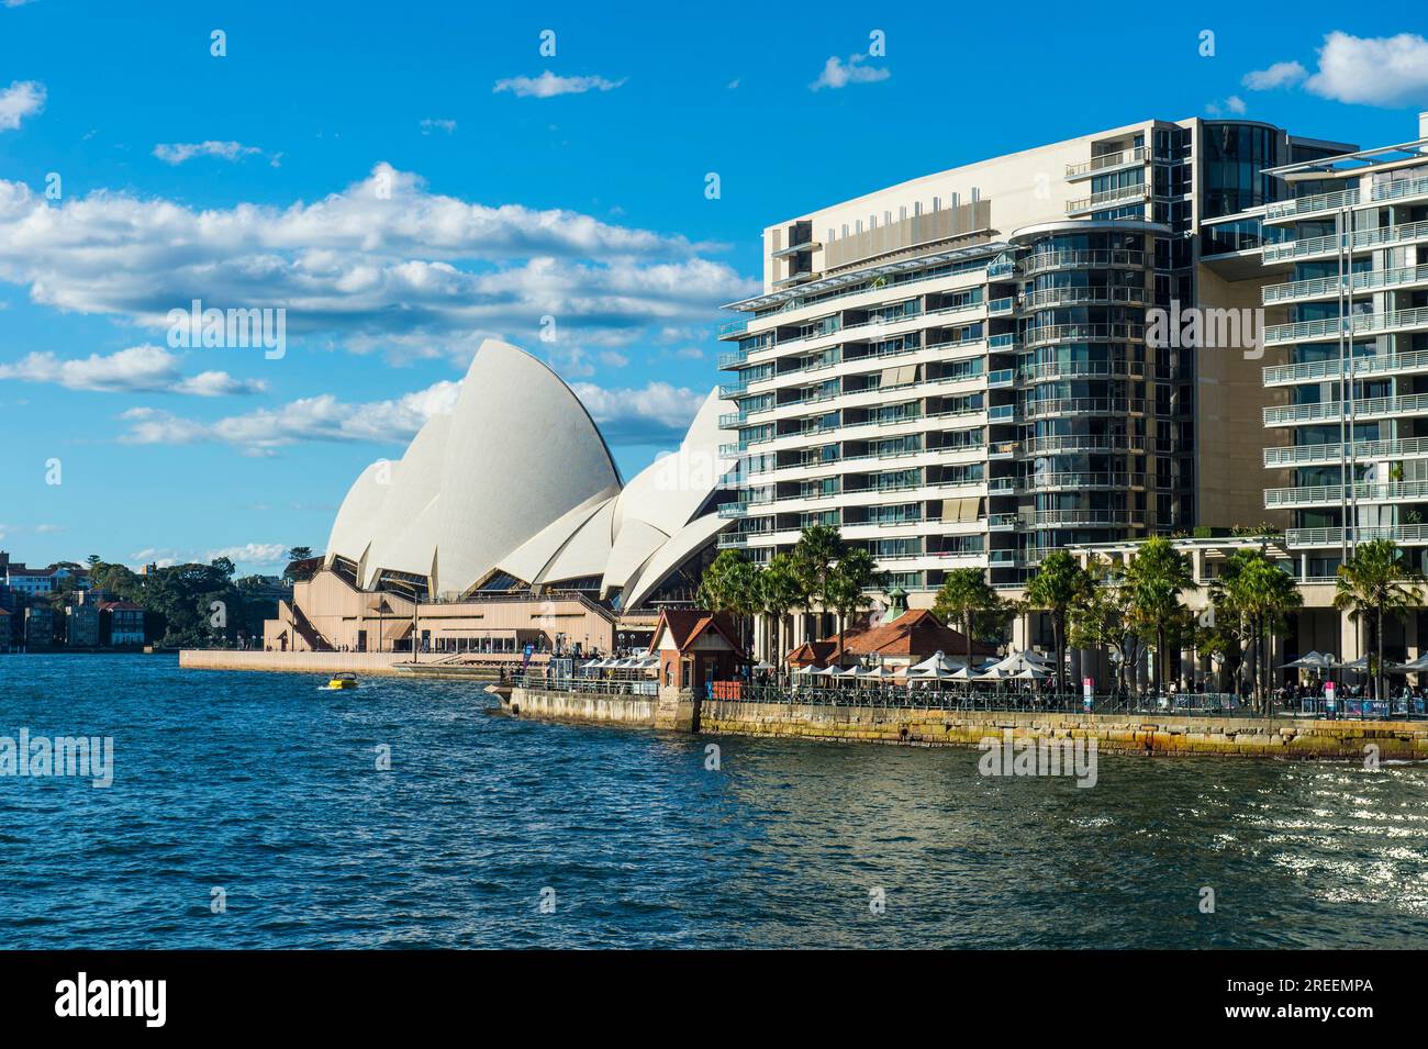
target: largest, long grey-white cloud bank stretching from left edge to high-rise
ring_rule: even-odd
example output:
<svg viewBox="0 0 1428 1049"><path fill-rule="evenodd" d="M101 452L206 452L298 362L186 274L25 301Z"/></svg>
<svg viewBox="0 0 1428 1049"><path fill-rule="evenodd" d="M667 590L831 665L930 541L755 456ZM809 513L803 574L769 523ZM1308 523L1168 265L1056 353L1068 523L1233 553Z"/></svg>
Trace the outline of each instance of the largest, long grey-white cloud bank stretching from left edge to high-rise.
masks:
<svg viewBox="0 0 1428 1049"><path fill-rule="evenodd" d="M387 164L311 203L197 211L94 193L49 201L0 178L0 281L31 301L154 333L193 298L286 308L290 343L468 361L487 335L618 347L707 325L758 288L708 245L574 211L484 206L427 191Z"/></svg>

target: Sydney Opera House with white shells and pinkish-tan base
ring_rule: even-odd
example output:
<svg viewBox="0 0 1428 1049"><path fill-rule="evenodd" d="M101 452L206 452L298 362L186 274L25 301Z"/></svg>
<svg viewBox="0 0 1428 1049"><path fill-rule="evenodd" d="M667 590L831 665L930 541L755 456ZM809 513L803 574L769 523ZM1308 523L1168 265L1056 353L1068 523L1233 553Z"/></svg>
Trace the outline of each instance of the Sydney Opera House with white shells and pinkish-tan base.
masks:
<svg viewBox="0 0 1428 1049"><path fill-rule="evenodd" d="M264 629L274 651L610 651L694 595L728 521L721 401L624 484L580 398L487 340L456 408L347 492L321 567Z"/></svg>

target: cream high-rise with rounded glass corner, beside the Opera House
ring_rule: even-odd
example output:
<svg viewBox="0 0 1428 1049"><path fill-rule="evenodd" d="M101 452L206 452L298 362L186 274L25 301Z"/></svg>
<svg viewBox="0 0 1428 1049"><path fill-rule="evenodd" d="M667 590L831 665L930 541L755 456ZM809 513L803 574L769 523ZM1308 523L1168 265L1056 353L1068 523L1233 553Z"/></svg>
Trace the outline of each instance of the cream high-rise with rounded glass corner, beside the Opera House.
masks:
<svg viewBox="0 0 1428 1049"><path fill-rule="evenodd" d="M1261 348L1157 343L1147 313L1257 307L1269 170L1354 148L1147 120L770 225L721 333L720 545L767 561L837 525L925 598L951 568L1010 587L1054 548L1264 521Z"/></svg>

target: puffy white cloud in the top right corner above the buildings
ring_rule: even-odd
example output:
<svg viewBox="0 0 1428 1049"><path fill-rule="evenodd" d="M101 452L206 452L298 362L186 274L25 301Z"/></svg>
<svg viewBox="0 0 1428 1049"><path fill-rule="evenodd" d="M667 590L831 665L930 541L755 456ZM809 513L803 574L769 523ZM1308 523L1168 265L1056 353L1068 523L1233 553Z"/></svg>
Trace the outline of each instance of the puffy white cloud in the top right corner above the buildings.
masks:
<svg viewBox="0 0 1428 1049"><path fill-rule="evenodd" d="M1345 103L1428 103L1428 40L1415 33L1367 39L1329 33L1319 49L1319 70L1304 86Z"/></svg>

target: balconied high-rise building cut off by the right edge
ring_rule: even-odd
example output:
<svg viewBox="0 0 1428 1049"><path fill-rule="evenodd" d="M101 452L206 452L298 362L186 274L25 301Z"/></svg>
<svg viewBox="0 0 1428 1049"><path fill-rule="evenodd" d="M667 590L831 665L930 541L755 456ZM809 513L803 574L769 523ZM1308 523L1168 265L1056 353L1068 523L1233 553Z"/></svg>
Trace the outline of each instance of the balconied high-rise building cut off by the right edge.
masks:
<svg viewBox="0 0 1428 1049"><path fill-rule="evenodd" d="M1271 471L1302 578L1334 574L1367 539L1428 567L1428 114L1418 140L1265 174L1282 190L1262 223Z"/></svg>

